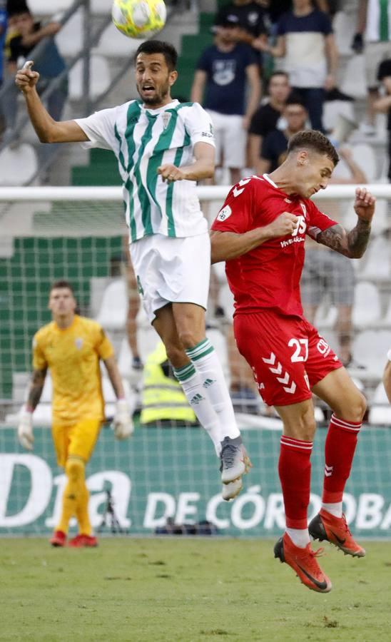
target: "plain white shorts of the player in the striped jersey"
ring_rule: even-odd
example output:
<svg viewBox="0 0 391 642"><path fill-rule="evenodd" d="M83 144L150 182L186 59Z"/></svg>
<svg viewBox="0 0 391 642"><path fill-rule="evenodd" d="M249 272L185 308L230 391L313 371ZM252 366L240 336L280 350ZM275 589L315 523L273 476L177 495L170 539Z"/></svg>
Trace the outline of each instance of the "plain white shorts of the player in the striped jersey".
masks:
<svg viewBox="0 0 391 642"><path fill-rule="evenodd" d="M148 319L168 303L195 303L205 308L210 276L208 232L185 238L145 236L130 245L138 291Z"/></svg>

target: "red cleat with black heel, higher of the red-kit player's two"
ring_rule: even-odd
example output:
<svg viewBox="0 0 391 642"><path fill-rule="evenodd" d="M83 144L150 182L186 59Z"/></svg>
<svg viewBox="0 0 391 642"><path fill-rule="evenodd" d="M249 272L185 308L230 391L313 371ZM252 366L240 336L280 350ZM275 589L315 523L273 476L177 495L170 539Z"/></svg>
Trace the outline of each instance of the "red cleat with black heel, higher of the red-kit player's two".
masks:
<svg viewBox="0 0 391 642"><path fill-rule="evenodd" d="M310 521L308 530L313 539L330 541L330 544L337 546L345 555L365 556L365 549L352 538L345 515L335 517L324 509L320 509L318 515L315 515L314 519Z"/></svg>

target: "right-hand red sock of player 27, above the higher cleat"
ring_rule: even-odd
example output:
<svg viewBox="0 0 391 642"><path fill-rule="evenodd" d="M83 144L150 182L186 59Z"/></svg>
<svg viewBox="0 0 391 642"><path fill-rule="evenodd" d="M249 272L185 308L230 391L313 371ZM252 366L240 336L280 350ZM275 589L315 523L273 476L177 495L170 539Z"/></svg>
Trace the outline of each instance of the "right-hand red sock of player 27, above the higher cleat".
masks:
<svg viewBox="0 0 391 642"><path fill-rule="evenodd" d="M322 501L335 504L342 501L347 478L360 432L361 422L346 422L332 414L325 443L325 478Z"/></svg>

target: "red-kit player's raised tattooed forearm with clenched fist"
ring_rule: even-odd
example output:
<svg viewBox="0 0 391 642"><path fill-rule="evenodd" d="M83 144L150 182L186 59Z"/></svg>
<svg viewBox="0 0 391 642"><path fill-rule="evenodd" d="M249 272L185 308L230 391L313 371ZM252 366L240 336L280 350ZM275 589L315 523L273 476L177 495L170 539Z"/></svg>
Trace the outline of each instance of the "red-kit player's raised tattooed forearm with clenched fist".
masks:
<svg viewBox="0 0 391 642"><path fill-rule="evenodd" d="M370 238L370 225L375 213L376 198L365 188L357 188L355 198L355 213L357 225L347 232L342 225L332 225L331 228L318 234L318 243L327 245L348 258L361 258L367 249Z"/></svg>

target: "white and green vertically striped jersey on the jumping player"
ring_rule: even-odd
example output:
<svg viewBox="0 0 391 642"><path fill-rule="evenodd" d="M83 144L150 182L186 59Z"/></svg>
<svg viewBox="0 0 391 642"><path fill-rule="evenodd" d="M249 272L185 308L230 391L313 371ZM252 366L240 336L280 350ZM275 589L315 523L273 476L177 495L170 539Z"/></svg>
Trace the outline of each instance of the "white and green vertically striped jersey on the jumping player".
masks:
<svg viewBox="0 0 391 642"><path fill-rule="evenodd" d="M90 142L111 149L123 180L123 200L131 241L151 234L185 237L208 229L200 210L195 181L163 181L160 165L193 163L195 143L214 146L208 113L198 103L172 101L147 109L141 101L103 109L76 123Z"/></svg>

